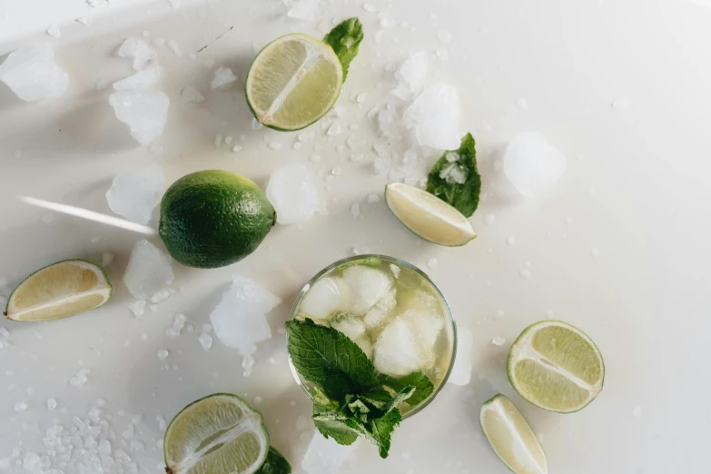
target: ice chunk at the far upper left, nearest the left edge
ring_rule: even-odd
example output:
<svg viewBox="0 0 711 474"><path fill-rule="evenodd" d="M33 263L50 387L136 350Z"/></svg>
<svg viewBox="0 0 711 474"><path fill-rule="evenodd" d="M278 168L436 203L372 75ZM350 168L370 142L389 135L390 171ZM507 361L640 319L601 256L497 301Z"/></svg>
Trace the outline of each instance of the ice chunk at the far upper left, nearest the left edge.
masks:
<svg viewBox="0 0 711 474"><path fill-rule="evenodd" d="M52 47L45 43L27 44L8 54L0 64L0 81L25 102L57 97L69 85L69 77L54 62Z"/></svg>

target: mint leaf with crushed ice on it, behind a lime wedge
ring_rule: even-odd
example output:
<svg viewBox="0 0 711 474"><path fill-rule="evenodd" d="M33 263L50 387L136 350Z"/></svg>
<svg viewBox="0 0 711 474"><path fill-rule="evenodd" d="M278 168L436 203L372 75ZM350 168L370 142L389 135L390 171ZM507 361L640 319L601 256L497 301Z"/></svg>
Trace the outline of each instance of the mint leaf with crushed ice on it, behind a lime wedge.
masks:
<svg viewBox="0 0 711 474"><path fill-rule="evenodd" d="M451 204L465 217L470 217L479 206L481 176L475 144L471 133L464 135L459 150L445 152L427 180L428 193Z"/></svg>

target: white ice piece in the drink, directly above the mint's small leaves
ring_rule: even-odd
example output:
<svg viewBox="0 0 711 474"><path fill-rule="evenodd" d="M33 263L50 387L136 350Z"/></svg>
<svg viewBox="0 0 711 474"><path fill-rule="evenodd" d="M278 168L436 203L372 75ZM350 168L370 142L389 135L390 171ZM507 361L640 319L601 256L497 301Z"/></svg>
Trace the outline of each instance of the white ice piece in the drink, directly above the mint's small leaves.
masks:
<svg viewBox="0 0 711 474"><path fill-rule="evenodd" d="M373 348L373 363L387 375L403 376L420 370L420 347L407 321L398 317L380 332Z"/></svg>

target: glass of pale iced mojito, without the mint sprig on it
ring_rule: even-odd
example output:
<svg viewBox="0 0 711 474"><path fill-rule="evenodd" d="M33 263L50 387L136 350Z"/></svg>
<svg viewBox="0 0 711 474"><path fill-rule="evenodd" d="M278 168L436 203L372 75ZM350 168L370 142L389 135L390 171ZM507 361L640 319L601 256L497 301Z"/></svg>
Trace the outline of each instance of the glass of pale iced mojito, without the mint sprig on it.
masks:
<svg viewBox="0 0 711 474"><path fill-rule="evenodd" d="M400 403L403 418L425 408L449 377L457 330L444 295L414 265L383 255L358 255L334 262L306 283L291 319L311 320L341 331L392 380L423 373L433 389L416 405ZM338 348L337 348L338 350ZM291 371L311 400L320 387Z"/></svg>

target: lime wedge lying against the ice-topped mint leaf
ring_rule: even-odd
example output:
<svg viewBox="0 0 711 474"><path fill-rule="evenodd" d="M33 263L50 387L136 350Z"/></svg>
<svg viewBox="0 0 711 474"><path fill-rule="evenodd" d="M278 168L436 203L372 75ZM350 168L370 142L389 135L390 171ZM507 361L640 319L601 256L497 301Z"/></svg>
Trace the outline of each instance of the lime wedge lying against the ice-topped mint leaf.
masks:
<svg viewBox="0 0 711 474"><path fill-rule="evenodd" d="M400 222L426 241L459 247L477 236L461 212L420 188L390 183L385 201Z"/></svg>

